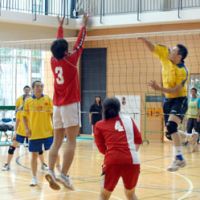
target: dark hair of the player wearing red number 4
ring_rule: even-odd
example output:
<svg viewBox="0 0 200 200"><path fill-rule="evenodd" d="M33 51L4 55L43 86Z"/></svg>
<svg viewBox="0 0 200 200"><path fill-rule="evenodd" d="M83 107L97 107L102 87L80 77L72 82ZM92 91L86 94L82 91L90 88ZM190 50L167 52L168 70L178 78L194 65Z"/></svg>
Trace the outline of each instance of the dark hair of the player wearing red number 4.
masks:
<svg viewBox="0 0 200 200"><path fill-rule="evenodd" d="M117 98L106 98L103 102L104 118L110 119L119 115L120 102Z"/></svg>

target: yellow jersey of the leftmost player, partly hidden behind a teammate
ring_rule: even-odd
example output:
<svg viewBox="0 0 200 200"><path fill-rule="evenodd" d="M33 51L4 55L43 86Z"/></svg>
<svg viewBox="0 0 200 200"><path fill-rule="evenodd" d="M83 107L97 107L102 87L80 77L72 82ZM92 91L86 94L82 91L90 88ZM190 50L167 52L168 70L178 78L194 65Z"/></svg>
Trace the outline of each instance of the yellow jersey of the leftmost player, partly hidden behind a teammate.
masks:
<svg viewBox="0 0 200 200"><path fill-rule="evenodd" d="M23 106L24 106L24 96L19 97L16 100L15 108L16 108L16 119L19 120L19 124L17 127L17 134L21 136L26 136L25 126L23 123Z"/></svg>

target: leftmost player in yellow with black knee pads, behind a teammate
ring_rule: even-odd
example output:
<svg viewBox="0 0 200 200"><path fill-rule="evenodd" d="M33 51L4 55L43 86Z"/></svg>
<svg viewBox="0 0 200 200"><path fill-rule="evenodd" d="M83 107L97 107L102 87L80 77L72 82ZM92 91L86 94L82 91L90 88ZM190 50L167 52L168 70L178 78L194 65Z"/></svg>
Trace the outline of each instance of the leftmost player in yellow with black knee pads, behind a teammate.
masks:
<svg viewBox="0 0 200 200"><path fill-rule="evenodd" d="M8 149L8 157L7 161L4 164L2 171L9 171L10 170L10 163L12 161L12 158L14 156L14 152L16 148L19 146L19 144L23 144L25 140L27 139L26 137L26 132L24 128L24 123L23 123L23 107L24 107L24 102L27 98L29 98L31 88L26 85L23 88L24 94L20 96L15 103L15 108L16 108L16 124L15 124L15 132L16 134L13 137L13 142L12 145L10 145ZM42 164L42 170L48 170L47 164L44 162L44 156L43 156L43 151L40 153L40 161Z"/></svg>

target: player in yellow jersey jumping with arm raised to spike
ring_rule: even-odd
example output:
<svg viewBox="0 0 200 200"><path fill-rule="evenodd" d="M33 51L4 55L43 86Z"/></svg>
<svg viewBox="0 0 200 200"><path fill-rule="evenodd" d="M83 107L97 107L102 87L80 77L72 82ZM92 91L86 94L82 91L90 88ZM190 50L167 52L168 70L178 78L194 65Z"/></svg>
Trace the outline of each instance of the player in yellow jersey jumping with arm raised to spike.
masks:
<svg viewBox="0 0 200 200"><path fill-rule="evenodd" d="M173 141L174 150L174 159L168 167L168 171L177 171L186 165L178 125L182 122L188 107L188 69L184 64L188 50L182 44L177 44L169 49L163 45L154 45L145 38L140 38L140 40L162 64L162 86L157 84L156 81L151 81L149 86L165 95L163 111L167 129L166 137Z"/></svg>

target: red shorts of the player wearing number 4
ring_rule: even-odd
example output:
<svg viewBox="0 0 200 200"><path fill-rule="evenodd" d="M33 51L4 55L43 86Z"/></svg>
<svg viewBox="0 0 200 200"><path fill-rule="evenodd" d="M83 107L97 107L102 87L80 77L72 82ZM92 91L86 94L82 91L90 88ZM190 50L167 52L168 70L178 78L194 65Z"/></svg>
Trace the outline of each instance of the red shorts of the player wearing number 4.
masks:
<svg viewBox="0 0 200 200"><path fill-rule="evenodd" d="M140 165L109 165L104 169L104 189L112 192L122 177L127 190L135 188L140 174Z"/></svg>

